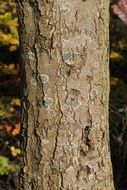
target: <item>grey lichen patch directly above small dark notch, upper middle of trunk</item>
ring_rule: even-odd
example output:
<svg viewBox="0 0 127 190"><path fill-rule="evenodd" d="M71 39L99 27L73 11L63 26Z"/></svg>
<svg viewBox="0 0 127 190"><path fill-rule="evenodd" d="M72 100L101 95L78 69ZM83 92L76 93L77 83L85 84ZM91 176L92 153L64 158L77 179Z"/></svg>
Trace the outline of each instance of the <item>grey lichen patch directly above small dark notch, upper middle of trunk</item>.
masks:
<svg viewBox="0 0 127 190"><path fill-rule="evenodd" d="M67 65L73 65L73 55L71 52L64 52L62 55L63 61L64 63L66 63Z"/></svg>

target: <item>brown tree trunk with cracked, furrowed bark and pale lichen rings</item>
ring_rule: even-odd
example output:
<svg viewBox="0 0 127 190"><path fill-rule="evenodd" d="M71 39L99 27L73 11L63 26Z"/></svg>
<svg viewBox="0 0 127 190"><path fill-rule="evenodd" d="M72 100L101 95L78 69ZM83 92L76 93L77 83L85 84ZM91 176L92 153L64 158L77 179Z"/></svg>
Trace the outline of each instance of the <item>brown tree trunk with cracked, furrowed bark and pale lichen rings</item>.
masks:
<svg viewBox="0 0 127 190"><path fill-rule="evenodd" d="M108 0L17 3L22 55L21 190L113 190Z"/></svg>

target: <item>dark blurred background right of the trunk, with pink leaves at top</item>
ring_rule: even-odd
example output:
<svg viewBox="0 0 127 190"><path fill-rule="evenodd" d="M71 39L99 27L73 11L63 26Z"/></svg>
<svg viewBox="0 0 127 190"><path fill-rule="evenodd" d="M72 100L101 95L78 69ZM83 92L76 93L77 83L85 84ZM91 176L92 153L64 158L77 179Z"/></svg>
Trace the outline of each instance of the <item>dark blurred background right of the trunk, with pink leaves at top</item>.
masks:
<svg viewBox="0 0 127 190"><path fill-rule="evenodd" d="M123 190L127 189L127 0L112 0L110 12L110 146L115 187Z"/></svg>

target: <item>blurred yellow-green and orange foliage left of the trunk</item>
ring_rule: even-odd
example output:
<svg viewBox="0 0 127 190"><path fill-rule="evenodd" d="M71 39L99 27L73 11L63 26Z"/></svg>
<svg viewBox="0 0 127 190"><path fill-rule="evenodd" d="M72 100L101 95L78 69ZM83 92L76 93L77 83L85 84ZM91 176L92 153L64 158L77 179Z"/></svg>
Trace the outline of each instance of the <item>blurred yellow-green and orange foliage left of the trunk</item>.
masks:
<svg viewBox="0 0 127 190"><path fill-rule="evenodd" d="M18 19L13 0L0 0L0 190L16 189L19 166Z"/></svg>

